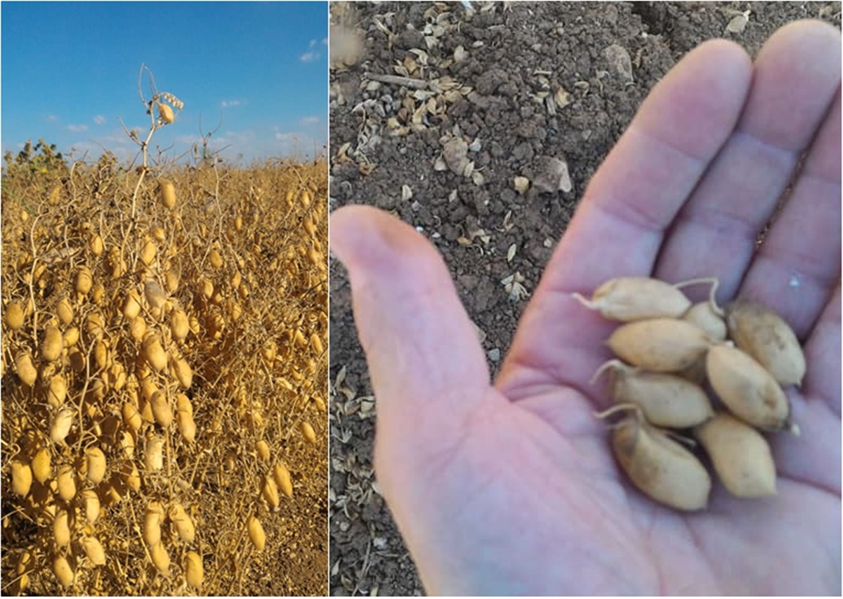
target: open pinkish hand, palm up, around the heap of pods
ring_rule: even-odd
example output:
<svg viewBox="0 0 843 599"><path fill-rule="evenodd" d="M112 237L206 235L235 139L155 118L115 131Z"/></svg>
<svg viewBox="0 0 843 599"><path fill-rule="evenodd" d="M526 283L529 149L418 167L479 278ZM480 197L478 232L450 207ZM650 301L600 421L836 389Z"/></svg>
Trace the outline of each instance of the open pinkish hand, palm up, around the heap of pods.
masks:
<svg viewBox="0 0 843 599"><path fill-rule="evenodd" d="M590 182L493 383L427 240L354 206L332 215L330 243L378 397L379 483L427 592L840 593L837 30L789 24L754 64L712 40L668 73ZM588 384L615 325L571 294L626 274L716 276L720 300L745 294L793 323L803 434L772 440L775 497L716 485L708 510L680 513L619 472L593 418L604 384Z"/></svg>

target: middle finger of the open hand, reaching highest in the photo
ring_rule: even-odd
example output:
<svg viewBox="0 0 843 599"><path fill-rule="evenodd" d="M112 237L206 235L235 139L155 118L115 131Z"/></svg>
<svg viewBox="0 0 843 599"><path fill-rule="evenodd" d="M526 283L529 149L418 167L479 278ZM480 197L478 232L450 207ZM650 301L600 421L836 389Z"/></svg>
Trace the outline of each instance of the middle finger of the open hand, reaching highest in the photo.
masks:
<svg viewBox="0 0 843 599"><path fill-rule="evenodd" d="M758 235L789 185L800 154L823 122L839 84L840 33L830 25L799 21L767 40L755 62L752 88L737 129L665 241L656 269L660 278L716 276L721 298L736 294ZM800 203L803 206L797 213L814 223L804 212L808 206ZM813 202L813 208L808 208L813 217L831 218L839 224L839 212L835 217L834 210L829 202ZM784 283L787 286L787 277ZM820 302L830 290L825 283ZM811 321L819 304L813 307Z"/></svg>

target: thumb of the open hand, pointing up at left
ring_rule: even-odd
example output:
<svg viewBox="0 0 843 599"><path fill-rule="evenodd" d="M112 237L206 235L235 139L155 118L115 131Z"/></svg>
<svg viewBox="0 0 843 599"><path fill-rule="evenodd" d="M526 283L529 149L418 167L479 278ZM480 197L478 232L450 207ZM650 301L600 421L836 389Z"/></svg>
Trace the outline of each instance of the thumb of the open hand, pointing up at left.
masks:
<svg viewBox="0 0 843 599"><path fill-rule="evenodd" d="M448 445L489 389L486 357L438 251L376 208L330 218L330 251L352 285L358 337L378 397L379 444Z"/></svg>

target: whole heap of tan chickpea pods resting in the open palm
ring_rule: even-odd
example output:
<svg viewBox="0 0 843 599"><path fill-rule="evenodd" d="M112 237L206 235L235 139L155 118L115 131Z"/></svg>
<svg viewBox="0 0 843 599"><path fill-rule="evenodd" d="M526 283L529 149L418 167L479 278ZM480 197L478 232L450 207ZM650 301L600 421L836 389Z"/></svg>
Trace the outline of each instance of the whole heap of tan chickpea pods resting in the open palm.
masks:
<svg viewBox="0 0 843 599"><path fill-rule="evenodd" d="M691 305L680 288L706 282L709 300ZM594 375L608 372L615 402L596 416L622 414L609 424L612 452L636 488L675 510L708 505L711 477L701 453L730 494L776 494L776 464L762 432L799 434L782 388L805 375L796 335L764 305L734 300L721 308L716 291L716 279L671 285L620 277L591 299L573 294L622 323L607 340L620 359Z"/></svg>

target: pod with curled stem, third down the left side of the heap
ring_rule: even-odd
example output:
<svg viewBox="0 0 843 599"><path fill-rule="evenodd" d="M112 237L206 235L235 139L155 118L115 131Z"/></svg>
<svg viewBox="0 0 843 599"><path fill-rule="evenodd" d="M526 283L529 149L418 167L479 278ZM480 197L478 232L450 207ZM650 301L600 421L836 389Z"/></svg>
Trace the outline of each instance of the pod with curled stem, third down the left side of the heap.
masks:
<svg viewBox="0 0 843 599"><path fill-rule="evenodd" d="M620 360L610 360L600 370L604 368L609 368L609 393L615 403L636 404L650 424L685 429L714 415L706 392L681 376L648 372Z"/></svg>

